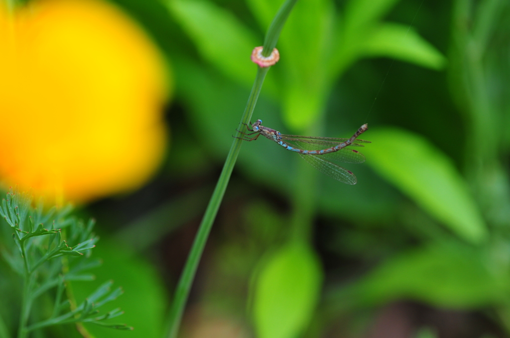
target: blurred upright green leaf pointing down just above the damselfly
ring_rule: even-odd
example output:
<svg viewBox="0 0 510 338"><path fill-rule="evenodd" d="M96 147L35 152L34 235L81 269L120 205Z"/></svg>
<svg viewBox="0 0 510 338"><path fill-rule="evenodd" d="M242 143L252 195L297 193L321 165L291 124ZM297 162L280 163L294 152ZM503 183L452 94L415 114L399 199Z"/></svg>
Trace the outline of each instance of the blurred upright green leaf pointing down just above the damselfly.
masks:
<svg viewBox="0 0 510 338"><path fill-rule="evenodd" d="M329 93L326 61L330 57L335 9L328 0L300 0L282 31L278 63L285 80L283 119L302 132L323 112Z"/></svg>

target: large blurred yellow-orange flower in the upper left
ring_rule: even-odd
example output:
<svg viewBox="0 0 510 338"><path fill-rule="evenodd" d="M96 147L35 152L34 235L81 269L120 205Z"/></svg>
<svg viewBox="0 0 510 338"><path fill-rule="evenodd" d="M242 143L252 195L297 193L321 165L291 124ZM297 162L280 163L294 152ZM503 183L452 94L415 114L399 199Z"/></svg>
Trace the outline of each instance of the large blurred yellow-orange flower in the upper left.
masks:
<svg viewBox="0 0 510 338"><path fill-rule="evenodd" d="M166 144L166 65L100 1L0 4L0 179L57 201L143 184Z"/></svg>

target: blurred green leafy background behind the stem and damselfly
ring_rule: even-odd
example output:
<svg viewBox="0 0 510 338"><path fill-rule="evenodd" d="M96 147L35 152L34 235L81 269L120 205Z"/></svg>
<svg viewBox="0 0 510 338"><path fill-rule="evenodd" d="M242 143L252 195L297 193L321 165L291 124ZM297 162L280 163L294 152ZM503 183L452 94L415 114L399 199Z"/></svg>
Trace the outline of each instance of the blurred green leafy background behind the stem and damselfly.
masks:
<svg viewBox="0 0 510 338"><path fill-rule="evenodd" d="M79 210L98 223L97 284L123 287L135 327L97 337L162 335L281 3L115 2L164 52L175 97L158 174ZM348 186L243 144L181 336L510 336L510 3L299 0L277 47L252 121L330 137L368 123L367 161L345 165Z"/></svg>

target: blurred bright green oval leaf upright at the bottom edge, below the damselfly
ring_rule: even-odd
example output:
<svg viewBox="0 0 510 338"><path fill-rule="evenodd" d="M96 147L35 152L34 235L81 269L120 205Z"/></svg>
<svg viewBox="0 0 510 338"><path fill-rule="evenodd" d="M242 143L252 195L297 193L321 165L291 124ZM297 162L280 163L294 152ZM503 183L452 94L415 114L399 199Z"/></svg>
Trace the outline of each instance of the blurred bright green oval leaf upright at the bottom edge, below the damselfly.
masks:
<svg viewBox="0 0 510 338"><path fill-rule="evenodd" d="M293 243L276 252L255 285L253 316L260 338L291 338L308 325L322 283L315 252Z"/></svg>

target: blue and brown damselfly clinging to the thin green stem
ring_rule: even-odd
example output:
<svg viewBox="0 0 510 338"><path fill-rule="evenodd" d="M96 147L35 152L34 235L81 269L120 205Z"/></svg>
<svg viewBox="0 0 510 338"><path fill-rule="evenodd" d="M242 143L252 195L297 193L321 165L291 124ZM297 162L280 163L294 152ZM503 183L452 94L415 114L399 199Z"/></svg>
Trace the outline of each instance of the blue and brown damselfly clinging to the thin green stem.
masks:
<svg viewBox="0 0 510 338"><path fill-rule="evenodd" d="M370 143L370 141L356 139L368 129L367 124L361 126L350 138L286 135L277 130L264 127L262 120L257 120L257 122L251 124L251 128L246 124L246 128L251 132L244 133L238 130L244 135L238 138L254 141L260 135L264 135L285 149L298 153L305 161L312 164L323 174L347 184L356 184L358 180L351 171L331 161L363 163L365 162L365 156L359 151L347 147L364 147L361 143ZM256 135L251 138L248 137L253 134ZM313 147L316 147L317 150L310 150Z"/></svg>

